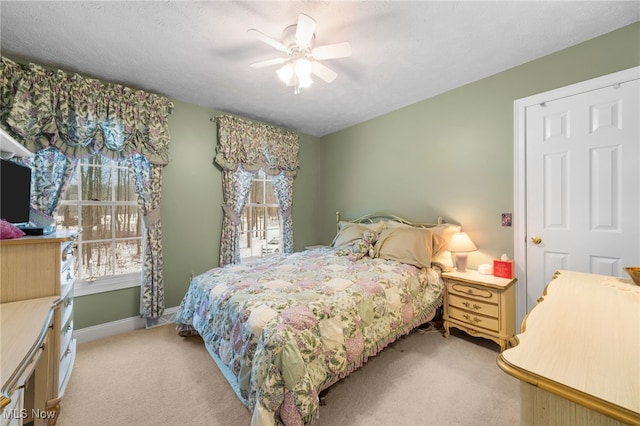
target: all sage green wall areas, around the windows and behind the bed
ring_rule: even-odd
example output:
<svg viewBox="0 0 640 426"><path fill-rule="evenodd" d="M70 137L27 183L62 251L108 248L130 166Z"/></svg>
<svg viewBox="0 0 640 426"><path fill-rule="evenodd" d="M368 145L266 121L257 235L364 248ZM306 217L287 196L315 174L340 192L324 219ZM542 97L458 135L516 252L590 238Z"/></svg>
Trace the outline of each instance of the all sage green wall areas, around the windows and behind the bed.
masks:
<svg viewBox="0 0 640 426"><path fill-rule="evenodd" d="M343 131L300 135L295 178L294 248L328 244L335 212L371 211L414 221L460 223L479 251L477 266L513 255L513 102L640 65L640 23L529 62ZM217 266L221 174L213 165L219 111L175 101L171 162L163 171L166 307L177 306L192 274ZM514 217L514 220L518 220ZM77 329L138 315L139 290L76 299Z"/></svg>

